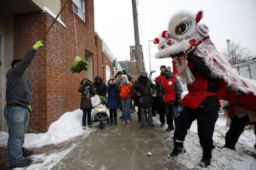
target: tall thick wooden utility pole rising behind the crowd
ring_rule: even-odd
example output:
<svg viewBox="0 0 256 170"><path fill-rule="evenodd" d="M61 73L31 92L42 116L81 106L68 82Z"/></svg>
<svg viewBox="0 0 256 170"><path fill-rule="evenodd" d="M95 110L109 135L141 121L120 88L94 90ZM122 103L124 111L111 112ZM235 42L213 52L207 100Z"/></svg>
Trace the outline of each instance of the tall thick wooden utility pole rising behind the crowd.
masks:
<svg viewBox="0 0 256 170"><path fill-rule="evenodd" d="M141 73L141 53L139 52L139 28L137 18L136 0L131 0L133 3L133 25L134 25L134 38L135 38L135 56L137 65L137 75Z"/></svg>

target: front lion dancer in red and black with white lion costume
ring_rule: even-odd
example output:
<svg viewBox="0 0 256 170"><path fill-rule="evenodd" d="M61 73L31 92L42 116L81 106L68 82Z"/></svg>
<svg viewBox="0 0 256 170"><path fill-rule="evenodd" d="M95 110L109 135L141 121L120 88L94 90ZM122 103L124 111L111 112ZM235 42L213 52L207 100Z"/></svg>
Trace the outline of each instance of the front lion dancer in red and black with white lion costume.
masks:
<svg viewBox="0 0 256 170"><path fill-rule="evenodd" d="M174 149L168 155L174 159L184 152L183 142L187 130L197 120L200 146L203 148L201 167L208 167L212 158L213 131L218 118L217 92L221 80L232 90L256 94L254 80L242 78L232 69L226 58L217 52L208 35L209 28L199 24L203 11L193 14L178 11L168 22L168 31L163 31L160 39L154 40L159 51L156 58L173 59L174 74L180 76L181 82L187 84L188 94L181 100L183 111L176 120L174 132Z"/></svg>

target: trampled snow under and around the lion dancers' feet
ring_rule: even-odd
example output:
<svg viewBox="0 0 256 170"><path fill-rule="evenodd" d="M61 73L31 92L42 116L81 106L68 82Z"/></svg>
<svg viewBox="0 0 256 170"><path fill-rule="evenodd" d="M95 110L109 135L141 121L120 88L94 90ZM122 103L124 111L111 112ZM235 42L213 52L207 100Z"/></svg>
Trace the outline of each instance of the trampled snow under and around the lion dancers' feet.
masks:
<svg viewBox="0 0 256 170"><path fill-rule="evenodd" d="M211 164L208 168L201 168L199 162L202 156L199 137L197 136L197 122L194 121L185 138L184 147L187 152L177 156L177 162L188 169L256 169L256 150L254 130L244 130L236 145L236 152L227 148L221 149L225 144L225 134L229 130L226 118L219 116L213 134L216 146L212 152ZM254 128L253 128L254 129ZM172 137L172 135L171 135Z"/></svg>

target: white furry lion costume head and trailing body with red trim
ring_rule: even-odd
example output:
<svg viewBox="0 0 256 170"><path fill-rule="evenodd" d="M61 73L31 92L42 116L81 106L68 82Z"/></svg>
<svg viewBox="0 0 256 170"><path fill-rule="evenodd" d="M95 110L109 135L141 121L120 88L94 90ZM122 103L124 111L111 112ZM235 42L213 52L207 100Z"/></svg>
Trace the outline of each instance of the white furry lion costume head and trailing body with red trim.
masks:
<svg viewBox="0 0 256 170"><path fill-rule="evenodd" d="M174 74L181 77L181 82L189 84L195 78L187 65L187 54L193 53L203 59L211 70L211 76L225 80L229 89L256 95L256 81L240 76L225 56L218 53L208 35L209 28L205 24L199 24L202 18L203 11L196 15L185 10L176 12L168 22L168 31L163 31L159 39L154 40L159 49L155 58L171 57Z"/></svg>

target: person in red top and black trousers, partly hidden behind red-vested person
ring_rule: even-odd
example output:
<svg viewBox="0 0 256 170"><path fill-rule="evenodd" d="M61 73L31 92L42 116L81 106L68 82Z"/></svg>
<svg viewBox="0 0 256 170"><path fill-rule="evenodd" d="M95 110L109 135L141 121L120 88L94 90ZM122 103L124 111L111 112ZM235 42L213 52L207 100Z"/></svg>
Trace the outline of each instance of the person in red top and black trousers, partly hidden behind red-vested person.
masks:
<svg viewBox="0 0 256 170"><path fill-rule="evenodd" d="M166 122L166 109L164 107L163 99L159 94L160 94L160 85L161 85L162 80L164 79L164 73L166 71L166 66L165 65L160 66L160 71L161 71L160 75L155 79L156 80L155 88L156 88L156 99L158 99L158 102L159 102L159 107L158 107L157 111L158 111L159 119L161 122L160 127L163 128L164 124Z"/></svg>

